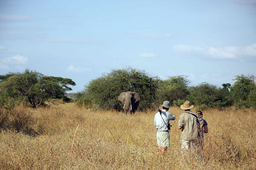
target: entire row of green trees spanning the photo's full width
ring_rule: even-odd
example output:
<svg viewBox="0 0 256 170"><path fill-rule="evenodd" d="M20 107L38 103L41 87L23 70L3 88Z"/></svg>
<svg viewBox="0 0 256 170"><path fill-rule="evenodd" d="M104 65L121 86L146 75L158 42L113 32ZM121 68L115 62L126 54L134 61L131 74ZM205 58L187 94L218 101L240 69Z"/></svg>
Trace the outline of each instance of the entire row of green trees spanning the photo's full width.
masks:
<svg viewBox="0 0 256 170"><path fill-rule="evenodd" d="M121 92L133 91L140 94L139 110L155 107L164 100L180 106L189 100L200 109L235 106L256 109L255 76L237 75L231 85L225 82L222 87L201 83L191 86L190 80L183 75L161 80L144 70L132 68L112 70L101 77L91 80L85 89L75 95L78 106L122 110L117 100ZM25 70L24 72L0 75L0 107L7 109L16 104L36 108L45 106L49 99L70 102L66 92L76 83L69 78L45 76L42 73ZM72 95L73 96L73 95Z"/></svg>

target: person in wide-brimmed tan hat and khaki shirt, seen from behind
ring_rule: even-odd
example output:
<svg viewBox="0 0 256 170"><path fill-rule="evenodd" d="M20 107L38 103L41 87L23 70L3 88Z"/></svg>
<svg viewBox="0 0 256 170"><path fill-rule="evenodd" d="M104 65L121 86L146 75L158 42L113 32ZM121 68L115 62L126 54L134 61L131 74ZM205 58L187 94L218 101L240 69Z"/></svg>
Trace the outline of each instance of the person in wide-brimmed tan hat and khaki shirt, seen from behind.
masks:
<svg viewBox="0 0 256 170"><path fill-rule="evenodd" d="M194 105L191 105L188 100L184 101L180 109L185 110L185 113L180 115L178 121L178 129L181 129L181 149L184 151L190 151L190 149L196 148L198 137L197 122L202 128L204 126L204 120L197 113L191 112Z"/></svg>

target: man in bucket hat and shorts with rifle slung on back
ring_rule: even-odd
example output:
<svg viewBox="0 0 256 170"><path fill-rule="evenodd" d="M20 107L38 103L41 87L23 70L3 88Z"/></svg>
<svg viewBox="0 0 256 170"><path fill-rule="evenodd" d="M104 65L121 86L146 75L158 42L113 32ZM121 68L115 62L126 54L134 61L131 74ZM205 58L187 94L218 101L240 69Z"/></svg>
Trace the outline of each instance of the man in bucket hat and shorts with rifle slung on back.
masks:
<svg viewBox="0 0 256 170"><path fill-rule="evenodd" d="M160 112L157 112L154 118L154 125L156 126L156 140L157 140L157 151L156 155L158 156L159 152L165 154L167 147L170 147L170 120L175 120L175 116L167 112L171 107L169 101L164 101L162 105L163 109Z"/></svg>

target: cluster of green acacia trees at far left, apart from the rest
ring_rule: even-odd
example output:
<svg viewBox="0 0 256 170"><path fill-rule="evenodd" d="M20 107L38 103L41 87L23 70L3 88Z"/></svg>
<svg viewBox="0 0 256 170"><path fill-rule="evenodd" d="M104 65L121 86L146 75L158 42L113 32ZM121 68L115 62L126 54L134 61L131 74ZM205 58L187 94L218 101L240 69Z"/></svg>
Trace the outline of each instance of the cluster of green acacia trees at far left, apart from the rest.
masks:
<svg viewBox="0 0 256 170"><path fill-rule="evenodd" d="M12 109L17 104L32 108L45 106L49 99L61 99L70 102L65 94L76 85L69 78L45 76L42 73L26 69L24 72L10 72L0 75L0 107Z"/></svg>

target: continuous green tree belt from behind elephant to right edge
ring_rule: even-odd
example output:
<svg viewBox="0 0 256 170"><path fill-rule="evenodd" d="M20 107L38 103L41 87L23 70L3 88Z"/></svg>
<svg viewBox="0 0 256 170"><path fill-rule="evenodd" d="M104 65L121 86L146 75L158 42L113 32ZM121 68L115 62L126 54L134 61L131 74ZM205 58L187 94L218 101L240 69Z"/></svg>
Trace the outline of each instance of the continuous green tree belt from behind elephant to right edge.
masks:
<svg viewBox="0 0 256 170"><path fill-rule="evenodd" d="M167 80L151 76L144 70L132 68L112 70L101 77L91 80L85 89L76 94L76 103L85 107L122 110L117 100L121 92L133 91L140 94L139 110L155 107L164 100L180 106L189 100L200 109L209 107L256 109L256 84L253 75L237 75L235 83L222 84L222 87L207 82L190 86L186 76L173 76Z"/></svg>

